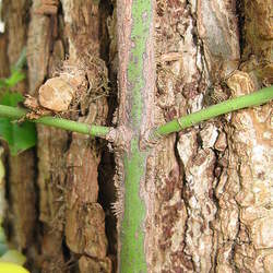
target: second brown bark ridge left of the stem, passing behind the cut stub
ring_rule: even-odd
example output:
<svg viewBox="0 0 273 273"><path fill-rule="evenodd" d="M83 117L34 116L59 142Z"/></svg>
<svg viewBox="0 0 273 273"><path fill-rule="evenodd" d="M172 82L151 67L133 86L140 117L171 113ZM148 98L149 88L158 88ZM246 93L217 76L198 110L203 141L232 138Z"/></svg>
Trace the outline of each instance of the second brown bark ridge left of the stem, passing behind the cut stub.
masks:
<svg viewBox="0 0 273 273"><path fill-rule="evenodd" d="M43 1L33 1L27 39L27 64L29 93L35 95L48 75L51 49L55 52L52 17L37 14ZM63 58L63 57L62 57ZM52 61L51 61L52 62ZM68 133L39 126L38 131L38 189L39 219L43 223L40 235L40 259L37 268L41 272L67 272L62 252L63 221L66 204L66 165L63 152L67 149Z"/></svg>

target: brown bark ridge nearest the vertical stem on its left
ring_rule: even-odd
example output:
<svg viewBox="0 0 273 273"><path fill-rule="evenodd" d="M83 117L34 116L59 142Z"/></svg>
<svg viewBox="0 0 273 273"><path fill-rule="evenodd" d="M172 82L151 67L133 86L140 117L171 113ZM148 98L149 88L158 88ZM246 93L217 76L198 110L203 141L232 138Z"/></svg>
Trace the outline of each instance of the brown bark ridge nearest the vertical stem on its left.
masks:
<svg viewBox="0 0 273 273"><path fill-rule="evenodd" d="M99 2L63 0L61 3L70 61L82 60L81 66L87 71L90 84L85 100L80 106L84 117L79 120L105 124L108 74L99 55L104 40L99 32L103 25ZM102 151L96 145L88 136L72 134L67 152L66 242L71 251L81 256L81 272L110 273L111 262L106 257L105 214L97 203L97 168Z"/></svg>

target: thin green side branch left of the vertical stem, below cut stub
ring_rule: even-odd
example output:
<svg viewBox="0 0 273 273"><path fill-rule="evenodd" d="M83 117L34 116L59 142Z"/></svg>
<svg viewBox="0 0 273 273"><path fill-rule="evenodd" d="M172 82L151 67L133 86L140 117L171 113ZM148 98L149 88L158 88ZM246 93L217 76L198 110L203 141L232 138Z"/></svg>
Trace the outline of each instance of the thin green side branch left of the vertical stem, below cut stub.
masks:
<svg viewBox="0 0 273 273"><path fill-rule="evenodd" d="M27 110L25 109L0 105L0 117L7 117L12 120L16 120L25 117L26 114ZM49 116L41 117L39 119L31 119L29 121L78 133L90 134L93 136L105 136L110 131L109 127L87 124L79 121L55 118Z"/></svg>

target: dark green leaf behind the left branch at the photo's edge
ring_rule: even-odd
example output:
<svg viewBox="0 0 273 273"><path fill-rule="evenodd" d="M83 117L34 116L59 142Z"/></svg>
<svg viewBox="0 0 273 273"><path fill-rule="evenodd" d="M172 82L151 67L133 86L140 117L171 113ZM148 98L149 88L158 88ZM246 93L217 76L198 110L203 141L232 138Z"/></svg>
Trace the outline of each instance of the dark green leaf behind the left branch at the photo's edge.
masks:
<svg viewBox="0 0 273 273"><path fill-rule="evenodd" d="M0 104L16 106L23 100L19 93L5 93L0 99ZM16 155L37 142L35 124L29 121L19 123L9 118L0 118L0 138L8 142L12 155Z"/></svg>

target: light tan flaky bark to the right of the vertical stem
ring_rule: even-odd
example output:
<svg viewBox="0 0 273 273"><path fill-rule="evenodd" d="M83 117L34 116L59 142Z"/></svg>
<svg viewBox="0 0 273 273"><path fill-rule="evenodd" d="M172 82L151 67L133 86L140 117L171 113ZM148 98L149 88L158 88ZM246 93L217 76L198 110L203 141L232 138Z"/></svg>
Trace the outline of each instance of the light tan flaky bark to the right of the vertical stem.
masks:
<svg viewBox="0 0 273 273"><path fill-rule="evenodd" d="M272 84L269 7L157 1L158 123L200 109L207 95L221 100ZM272 271L271 106L169 135L156 147L150 272Z"/></svg>

